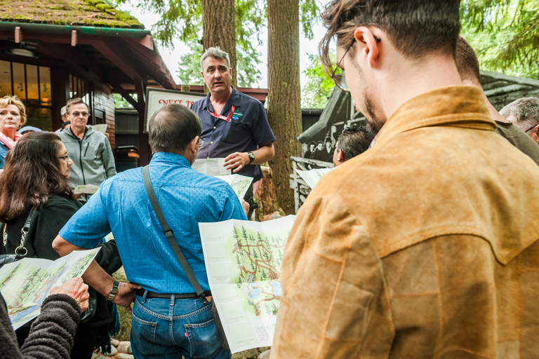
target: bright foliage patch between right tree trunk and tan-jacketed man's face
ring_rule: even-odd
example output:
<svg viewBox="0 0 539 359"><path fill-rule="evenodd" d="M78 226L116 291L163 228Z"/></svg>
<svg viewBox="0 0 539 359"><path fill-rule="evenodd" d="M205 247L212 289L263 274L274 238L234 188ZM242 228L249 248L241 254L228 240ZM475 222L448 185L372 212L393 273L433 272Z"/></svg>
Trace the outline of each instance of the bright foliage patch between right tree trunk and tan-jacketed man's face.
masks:
<svg viewBox="0 0 539 359"><path fill-rule="evenodd" d="M335 54L331 57L334 59ZM307 83L301 89L301 108L323 109L328 103L328 97L335 83L324 71L318 55L309 55L309 66L303 74L307 76Z"/></svg>

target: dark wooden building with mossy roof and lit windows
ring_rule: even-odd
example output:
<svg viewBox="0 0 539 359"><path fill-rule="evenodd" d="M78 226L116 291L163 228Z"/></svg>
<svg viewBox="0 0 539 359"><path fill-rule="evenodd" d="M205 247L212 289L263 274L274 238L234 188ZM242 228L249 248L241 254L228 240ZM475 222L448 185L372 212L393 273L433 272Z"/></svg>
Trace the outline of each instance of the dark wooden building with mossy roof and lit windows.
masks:
<svg viewBox="0 0 539 359"><path fill-rule="evenodd" d="M30 126L56 130L67 100L82 97L88 123L107 123L114 148L113 92L143 119L147 86L178 87L150 32L105 1L0 1L0 20L0 96L18 95ZM139 123L140 160L147 163L147 134Z"/></svg>

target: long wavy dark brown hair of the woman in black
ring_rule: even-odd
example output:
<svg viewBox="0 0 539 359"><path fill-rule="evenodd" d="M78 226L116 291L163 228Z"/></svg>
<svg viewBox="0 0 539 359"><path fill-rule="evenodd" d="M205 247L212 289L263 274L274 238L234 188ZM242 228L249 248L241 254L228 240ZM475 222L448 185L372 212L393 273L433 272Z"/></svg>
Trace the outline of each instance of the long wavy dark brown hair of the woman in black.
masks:
<svg viewBox="0 0 539 359"><path fill-rule="evenodd" d="M73 198L73 189L60 172L61 143L54 133L28 133L8 151L0 175L0 222L24 215L28 205L45 205L47 196Z"/></svg>

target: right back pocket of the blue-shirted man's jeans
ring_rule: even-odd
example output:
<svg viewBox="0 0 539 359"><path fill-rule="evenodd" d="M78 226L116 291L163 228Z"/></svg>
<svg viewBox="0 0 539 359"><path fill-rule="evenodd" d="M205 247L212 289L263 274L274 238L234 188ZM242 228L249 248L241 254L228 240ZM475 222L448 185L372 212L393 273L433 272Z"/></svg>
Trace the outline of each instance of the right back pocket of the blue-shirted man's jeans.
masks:
<svg viewBox="0 0 539 359"><path fill-rule="evenodd" d="M219 350L221 341L215 322L210 320L201 324L186 324L185 332L189 337L192 358L208 358Z"/></svg>

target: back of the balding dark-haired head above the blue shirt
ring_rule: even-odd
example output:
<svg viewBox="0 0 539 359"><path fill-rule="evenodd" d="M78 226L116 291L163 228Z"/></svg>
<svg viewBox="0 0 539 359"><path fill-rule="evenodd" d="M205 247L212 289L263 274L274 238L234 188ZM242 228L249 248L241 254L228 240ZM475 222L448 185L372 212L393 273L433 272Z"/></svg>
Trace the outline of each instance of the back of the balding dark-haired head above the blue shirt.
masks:
<svg viewBox="0 0 539 359"><path fill-rule="evenodd" d="M149 119L148 142L154 153L182 153L201 133L199 116L182 104L167 104Z"/></svg>

